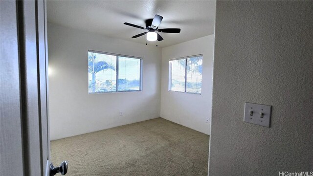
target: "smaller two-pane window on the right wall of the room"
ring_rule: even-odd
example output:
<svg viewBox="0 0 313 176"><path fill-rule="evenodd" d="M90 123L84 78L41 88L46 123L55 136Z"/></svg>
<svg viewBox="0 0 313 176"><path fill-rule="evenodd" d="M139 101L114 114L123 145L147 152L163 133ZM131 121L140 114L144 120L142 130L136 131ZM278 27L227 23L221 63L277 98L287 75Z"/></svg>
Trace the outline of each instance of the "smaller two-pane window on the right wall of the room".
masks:
<svg viewBox="0 0 313 176"><path fill-rule="evenodd" d="M172 59L169 90L201 94L202 55Z"/></svg>

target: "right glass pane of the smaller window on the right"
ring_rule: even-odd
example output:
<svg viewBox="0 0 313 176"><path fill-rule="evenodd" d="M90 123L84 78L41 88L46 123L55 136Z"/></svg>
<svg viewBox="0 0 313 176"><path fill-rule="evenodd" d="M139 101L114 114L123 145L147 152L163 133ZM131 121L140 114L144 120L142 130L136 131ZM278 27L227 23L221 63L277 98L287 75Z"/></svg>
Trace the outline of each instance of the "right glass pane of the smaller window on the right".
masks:
<svg viewBox="0 0 313 176"><path fill-rule="evenodd" d="M187 58L186 92L201 93L202 56Z"/></svg>

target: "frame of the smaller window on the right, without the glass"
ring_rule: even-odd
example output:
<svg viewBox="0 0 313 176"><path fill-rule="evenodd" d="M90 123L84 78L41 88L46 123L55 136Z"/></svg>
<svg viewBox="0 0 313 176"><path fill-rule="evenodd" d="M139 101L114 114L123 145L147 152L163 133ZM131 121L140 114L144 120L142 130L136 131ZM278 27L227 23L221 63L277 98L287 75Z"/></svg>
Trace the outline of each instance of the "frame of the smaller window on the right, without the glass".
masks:
<svg viewBox="0 0 313 176"><path fill-rule="evenodd" d="M186 56L186 57L180 57L180 58L175 58L175 59L170 59L168 61L169 63L169 79L168 79L168 91L172 91L172 92L180 92L180 93L192 93L192 94L196 94L196 95L201 95L202 93L202 79L201 79L201 93L194 93L194 92L187 92L187 59L188 58L192 58L192 57L197 57L197 56L201 56L202 57L202 65L203 65L203 54L197 54L197 55L192 55L192 56ZM185 59L185 90L184 91L176 91L176 90L171 90L172 88L172 66L170 65L170 61L175 61L175 60L181 60L181 59ZM203 69L202 69L203 70Z"/></svg>

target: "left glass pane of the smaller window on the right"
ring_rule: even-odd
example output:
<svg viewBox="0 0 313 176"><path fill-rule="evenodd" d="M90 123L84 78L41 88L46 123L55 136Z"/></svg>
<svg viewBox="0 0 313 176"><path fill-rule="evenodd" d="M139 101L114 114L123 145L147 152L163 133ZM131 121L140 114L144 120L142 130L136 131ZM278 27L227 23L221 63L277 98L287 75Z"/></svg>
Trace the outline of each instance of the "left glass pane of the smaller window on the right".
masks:
<svg viewBox="0 0 313 176"><path fill-rule="evenodd" d="M185 91L185 66L186 59L170 61L171 68L171 90Z"/></svg>

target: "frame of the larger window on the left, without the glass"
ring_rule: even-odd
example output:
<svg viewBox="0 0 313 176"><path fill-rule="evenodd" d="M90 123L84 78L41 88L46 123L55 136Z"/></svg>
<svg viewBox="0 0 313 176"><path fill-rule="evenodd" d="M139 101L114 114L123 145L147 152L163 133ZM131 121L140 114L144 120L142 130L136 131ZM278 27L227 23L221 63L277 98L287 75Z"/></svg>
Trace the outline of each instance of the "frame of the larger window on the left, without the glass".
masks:
<svg viewBox="0 0 313 176"><path fill-rule="evenodd" d="M88 58L88 54L89 52L93 52L93 53L98 53L98 54L106 54L106 55L112 55L112 56L116 56L116 88L115 91L108 91L108 92L91 92L88 94L96 94L96 93L117 93L117 92L137 92L137 91L142 91L142 58L141 57L136 57L136 56L128 56L128 55L123 55L123 54L115 54L115 53L109 53L109 52L103 52L103 51L95 51L95 50L88 50L87 52L87 58ZM127 57L127 58L133 58L133 59L139 59L140 60L140 80L139 80L139 90L118 90L118 58L119 57ZM88 59L87 59L87 65L88 65ZM89 83L88 83L89 86Z"/></svg>

